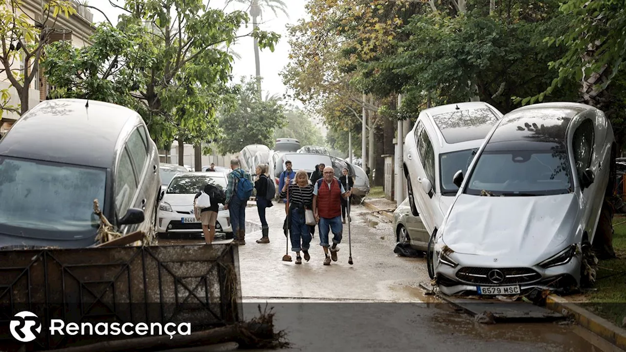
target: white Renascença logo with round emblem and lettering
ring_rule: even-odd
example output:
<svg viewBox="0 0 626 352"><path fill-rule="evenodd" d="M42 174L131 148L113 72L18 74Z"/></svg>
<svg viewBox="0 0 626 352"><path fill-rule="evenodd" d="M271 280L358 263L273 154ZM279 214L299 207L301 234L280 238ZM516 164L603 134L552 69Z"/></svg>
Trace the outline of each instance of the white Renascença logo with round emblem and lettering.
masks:
<svg viewBox="0 0 626 352"><path fill-rule="evenodd" d="M37 334L41 333L41 320L39 317L29 311L22 311L15 314L10 324L11 334L15 339L20 342L30 342L37 338ZM36 331L35 334L33 331ZM166 335L173 338L175 334L189 335L192 331L190 323L167 323L162 325L161 323L68 323L61 319L51 319L49 324L49 331L51 335L120 335L127 336L138 334L145 335L150 332L150 335Z"/></svg>

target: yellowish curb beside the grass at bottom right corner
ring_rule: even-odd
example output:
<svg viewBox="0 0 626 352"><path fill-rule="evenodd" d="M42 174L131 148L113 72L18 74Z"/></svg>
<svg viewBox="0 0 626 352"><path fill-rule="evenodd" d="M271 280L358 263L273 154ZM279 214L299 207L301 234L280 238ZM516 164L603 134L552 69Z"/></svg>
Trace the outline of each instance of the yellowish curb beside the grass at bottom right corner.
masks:
<svg viewBox="0 0 626 352"><path fill-rule="evenodd" d="M615 326L607 319L553 294L546 298L546 308L573 318L583 328L597 334L618 348L626 350L626 330Z"/></svg>

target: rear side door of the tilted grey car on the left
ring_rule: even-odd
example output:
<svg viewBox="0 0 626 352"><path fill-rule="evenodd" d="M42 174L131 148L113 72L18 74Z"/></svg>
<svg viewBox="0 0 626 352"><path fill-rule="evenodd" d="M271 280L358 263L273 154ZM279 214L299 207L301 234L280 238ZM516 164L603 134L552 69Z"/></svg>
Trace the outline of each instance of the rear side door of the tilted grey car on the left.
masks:
<svg viewBox="0 0 626 352"><path fill-rule="evenodd" d="M151 159L149 158L150 155L148 155L148 141L144 135L145 129L143 125L135 127L126 141L126 147L130 153L133 170L137 176L138 192L133 206L143 210L145 216L145 220L138 224L138 229L149 233L151 222L153 221L153 213L155 212L157 190L154 184L156 182L155 169L158 169L158 167L149 167Z"/></svg>

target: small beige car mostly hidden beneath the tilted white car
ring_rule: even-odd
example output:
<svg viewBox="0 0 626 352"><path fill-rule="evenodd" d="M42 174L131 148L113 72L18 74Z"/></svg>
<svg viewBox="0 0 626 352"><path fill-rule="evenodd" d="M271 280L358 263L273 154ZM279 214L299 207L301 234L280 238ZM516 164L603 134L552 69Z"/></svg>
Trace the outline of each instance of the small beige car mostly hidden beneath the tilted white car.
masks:
<svg viewBox="0 0 626 352"><path fill-rule="evenodd" d="M428 249L430 235L419 216L411 214L408 198L393 212L393 229L396 232L396 242L409 242L413 249L421 252Z"/></svg>

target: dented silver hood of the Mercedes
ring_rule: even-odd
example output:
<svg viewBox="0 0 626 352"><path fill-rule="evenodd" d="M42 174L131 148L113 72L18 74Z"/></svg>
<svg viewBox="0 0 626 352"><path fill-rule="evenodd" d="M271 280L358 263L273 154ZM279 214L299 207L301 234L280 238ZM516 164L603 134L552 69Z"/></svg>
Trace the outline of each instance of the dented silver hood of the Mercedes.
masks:
<svg viewBox="0 0 626 352"><path fill-rule="evenodd" d="M454 252L515 261L555 254L575 236L575 194L481 197L461 194L443 229Z"/></svg>

